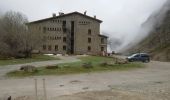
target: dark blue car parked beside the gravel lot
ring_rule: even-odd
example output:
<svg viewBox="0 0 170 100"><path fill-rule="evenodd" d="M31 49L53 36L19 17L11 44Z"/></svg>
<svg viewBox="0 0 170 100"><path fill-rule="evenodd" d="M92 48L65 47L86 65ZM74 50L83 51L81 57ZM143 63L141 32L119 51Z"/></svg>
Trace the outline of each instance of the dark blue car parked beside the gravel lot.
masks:
<svg viewBox="0 0 170 100"><path fill-rule="evenodd" d="M150 56L147 53L136 53L126 58L129 62L141 61L150 62Z"/></svg>

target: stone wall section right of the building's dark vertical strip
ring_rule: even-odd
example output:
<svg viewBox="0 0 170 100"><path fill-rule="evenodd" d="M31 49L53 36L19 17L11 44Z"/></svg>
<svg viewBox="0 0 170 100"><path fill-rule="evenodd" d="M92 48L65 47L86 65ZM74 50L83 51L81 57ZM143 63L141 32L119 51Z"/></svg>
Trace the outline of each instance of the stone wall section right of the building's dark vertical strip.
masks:
<svg viewBox="0 0 170 100"><path fill-rule="evenodd" d="M75 53L96 54L99 52L99 43L97 40L100 33L100 23L82 16L77 17ZM91 34L88 34L88 30L91 30ZM91 43L88 43L88 38L91 38ZM88 46L91 47L90 51L88 50Z"/></svg>

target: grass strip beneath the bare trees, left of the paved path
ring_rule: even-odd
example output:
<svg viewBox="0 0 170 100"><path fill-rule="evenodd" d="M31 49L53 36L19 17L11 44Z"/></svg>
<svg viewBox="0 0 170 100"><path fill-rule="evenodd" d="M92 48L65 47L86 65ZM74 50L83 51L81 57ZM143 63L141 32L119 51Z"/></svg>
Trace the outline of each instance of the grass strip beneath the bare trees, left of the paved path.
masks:
<svg viewBox="0 0 170 100"><path fill-rule="evenodd" d="M48 61L48 60L58 60L58 58L54 58L54 57L47 56L47 55L33 55L32 58L0 60L0 66L23 64L23 63L30 63L30 62L37 62L37 61Z"/></svg>

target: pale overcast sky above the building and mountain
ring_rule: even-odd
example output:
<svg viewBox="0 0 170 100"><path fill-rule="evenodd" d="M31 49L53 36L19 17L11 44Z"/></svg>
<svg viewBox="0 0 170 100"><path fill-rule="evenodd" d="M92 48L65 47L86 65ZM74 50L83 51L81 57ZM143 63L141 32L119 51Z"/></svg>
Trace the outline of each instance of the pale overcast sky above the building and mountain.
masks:
<svg viewBox="0 0 170 100"><path fill-rule="evenodd" d="M101 32L126 43L138 34L140 25L166 0L0 0L0 12L9 10L25 14L29 21L51 17L52 13L85 10L103 20Z"/></svg>

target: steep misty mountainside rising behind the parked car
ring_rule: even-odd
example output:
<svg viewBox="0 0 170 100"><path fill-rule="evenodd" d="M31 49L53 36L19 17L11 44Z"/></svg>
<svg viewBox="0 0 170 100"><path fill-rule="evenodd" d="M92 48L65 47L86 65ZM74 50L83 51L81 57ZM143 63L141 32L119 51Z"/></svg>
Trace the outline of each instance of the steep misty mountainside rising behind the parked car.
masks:
<svg viewBox="0 0 170 100"><path fill-rule="evenodd" d="M142 27L152 30L129 52L148 52L154 60L170 61L170 1L167 1L161 10L152 14Z"/></svg>

